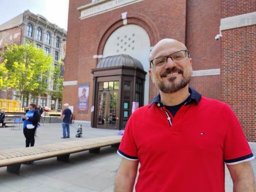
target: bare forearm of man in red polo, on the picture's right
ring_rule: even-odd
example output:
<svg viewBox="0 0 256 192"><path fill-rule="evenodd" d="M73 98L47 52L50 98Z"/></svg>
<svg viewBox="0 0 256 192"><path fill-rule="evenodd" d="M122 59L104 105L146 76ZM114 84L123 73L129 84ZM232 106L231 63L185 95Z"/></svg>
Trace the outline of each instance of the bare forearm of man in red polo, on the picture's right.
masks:
<svg viewBox="0 0 256 192"><path fill-rule="evenodd" d="M233 180L233 192L255 192L255 181L250 161L227 165Z"/></svg>

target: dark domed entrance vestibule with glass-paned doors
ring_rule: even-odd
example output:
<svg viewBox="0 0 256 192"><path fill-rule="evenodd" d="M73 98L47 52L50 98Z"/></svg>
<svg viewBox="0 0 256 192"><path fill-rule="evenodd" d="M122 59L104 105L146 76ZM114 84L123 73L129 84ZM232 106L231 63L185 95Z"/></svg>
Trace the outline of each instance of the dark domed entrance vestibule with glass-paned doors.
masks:
<svg viewBox="0 0 256 192"><path fill-rule="evenodd" d="M103 58L94 77L92 127L124 129L131 113L132 102L143 106L146 72L137 59L126 55Z"/></svg>

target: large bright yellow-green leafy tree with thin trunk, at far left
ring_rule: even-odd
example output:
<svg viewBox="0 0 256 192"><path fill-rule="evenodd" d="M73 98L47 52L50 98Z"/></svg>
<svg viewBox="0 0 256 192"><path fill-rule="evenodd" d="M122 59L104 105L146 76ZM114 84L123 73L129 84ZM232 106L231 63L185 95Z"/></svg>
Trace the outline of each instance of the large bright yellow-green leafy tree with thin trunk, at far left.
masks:
<svg viewBox="0 0 256 192"><path fill-rule="evenodd" d="M5 72L0 74L2 88L14 88L23 97L47 92L48 77L52 76L52 57L35 44L16 44L8 46L3 53L4 62L0 67ZM1 83L2 82L2 83Z"/></svg>

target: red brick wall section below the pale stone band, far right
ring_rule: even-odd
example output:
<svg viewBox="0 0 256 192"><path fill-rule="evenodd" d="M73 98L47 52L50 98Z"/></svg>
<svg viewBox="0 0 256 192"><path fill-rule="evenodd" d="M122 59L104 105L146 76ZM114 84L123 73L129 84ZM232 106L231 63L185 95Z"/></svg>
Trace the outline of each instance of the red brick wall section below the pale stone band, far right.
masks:
<svg viewBox="0 0 256 192"><path fill-rule="evenodd" d="M256 142L256 25L222 31L221 100Z"/></svg>

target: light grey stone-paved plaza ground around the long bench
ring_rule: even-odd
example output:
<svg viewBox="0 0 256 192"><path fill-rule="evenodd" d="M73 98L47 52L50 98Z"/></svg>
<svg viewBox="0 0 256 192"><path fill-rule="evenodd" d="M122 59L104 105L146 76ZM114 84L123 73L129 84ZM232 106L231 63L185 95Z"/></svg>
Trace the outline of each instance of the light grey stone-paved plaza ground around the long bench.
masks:
<svg viewBox="0 0 256 192"><path fill-rule="evenodd" d="M37 131L35 145L54 144L115 135L118 130L93 129L83 124L83 138L75 138L78 124L71 127L71 138L61 139L60 123L44 124ZM0 128L0 150L25 146L23 131ZM0 192L113 192L115 175L121 162L116 148L103 147L100 154L88 151L70 155L69 162L57 161L56 157L38 160L34 164L22 164L20 174L0 167ZM256 173L256 160L251 161ZM211 166L211 165L209 165ZM226 192L232 192L232 180L226 168Z"/></svg>

